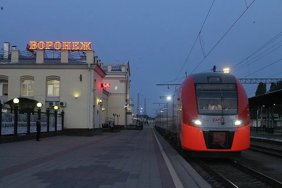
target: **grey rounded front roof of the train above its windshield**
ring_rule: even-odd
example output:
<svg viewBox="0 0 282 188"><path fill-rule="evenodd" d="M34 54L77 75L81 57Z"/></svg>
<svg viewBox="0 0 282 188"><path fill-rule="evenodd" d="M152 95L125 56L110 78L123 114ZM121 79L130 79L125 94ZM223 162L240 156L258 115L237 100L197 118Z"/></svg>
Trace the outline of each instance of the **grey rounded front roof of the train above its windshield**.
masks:
<svg viewBox="0 0 282 188"><path fill-rule="evenodd" d="M194 83L236 83L232 74L222 72L207 72L192 74Z"/></svg>

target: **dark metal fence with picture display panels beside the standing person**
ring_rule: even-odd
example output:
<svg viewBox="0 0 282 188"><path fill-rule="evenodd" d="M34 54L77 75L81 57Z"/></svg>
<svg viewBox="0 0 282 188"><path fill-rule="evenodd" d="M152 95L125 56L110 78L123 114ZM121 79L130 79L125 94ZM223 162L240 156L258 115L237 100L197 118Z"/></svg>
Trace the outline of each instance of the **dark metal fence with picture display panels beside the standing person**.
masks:
<svg viewBox="0 0 282 188"><path fill-rule="evenodd" d="M0 104L0 136L1 135L14 135L30 134L36 132L37 118L41 119L41 132L60 131L64 127L64 111L58 113L50 113L50 110L41 112L27 110L20 110L18 107L2 108ZM17 125L17 126L15 126Z"/></svg>

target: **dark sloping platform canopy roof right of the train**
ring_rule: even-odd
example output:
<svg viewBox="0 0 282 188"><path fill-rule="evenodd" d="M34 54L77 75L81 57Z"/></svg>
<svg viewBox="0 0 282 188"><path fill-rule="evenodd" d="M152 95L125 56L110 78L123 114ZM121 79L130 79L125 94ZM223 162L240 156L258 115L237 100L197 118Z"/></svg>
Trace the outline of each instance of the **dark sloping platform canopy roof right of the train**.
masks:
<svg viewBox="0 0 282 188"><path fill-rule="evenodd" d="M272 106L282 103L282 89L249 98L249 107Z"/></svg>

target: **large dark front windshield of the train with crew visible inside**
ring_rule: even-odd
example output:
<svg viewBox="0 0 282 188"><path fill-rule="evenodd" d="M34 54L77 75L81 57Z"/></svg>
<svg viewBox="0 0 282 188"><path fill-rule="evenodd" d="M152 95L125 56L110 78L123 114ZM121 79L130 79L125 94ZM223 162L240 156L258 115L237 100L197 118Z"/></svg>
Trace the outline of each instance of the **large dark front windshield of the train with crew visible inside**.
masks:
<svg viewBox="0 0 282 188"><path fill-rule="evenodd" d="M236 84L195 84L199 115L236 115Z"/></svg>

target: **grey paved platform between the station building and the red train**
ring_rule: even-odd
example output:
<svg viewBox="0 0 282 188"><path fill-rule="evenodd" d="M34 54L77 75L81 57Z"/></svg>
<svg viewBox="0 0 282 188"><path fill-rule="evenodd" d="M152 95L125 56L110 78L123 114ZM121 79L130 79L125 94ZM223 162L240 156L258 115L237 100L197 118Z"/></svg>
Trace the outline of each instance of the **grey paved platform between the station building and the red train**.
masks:
<svg viewBox="0 0 282 188"><path fill-rule="evenodd" d="M1 144L0 187L211 187L154 132L146 126Z"/></svg>

